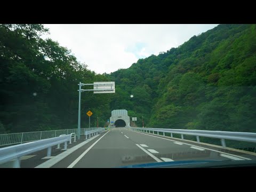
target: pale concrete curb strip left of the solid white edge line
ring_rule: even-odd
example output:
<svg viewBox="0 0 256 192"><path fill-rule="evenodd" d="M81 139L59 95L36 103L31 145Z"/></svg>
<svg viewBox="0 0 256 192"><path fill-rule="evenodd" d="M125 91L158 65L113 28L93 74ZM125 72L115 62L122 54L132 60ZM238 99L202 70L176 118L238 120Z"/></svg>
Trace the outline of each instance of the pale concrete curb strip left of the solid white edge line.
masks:
<svg viewBox="0 0 256 192"><path fill-rule="evenodd" d="M91 137L90 139L87 139L86 141L82 142L82 143L79 143L78 145L64 151L63 153L51 158L50 160L40 164L40 165L37 165L35 168L50 168L52 167L53 165L55 165L56 163L59 163L63 158L67 157L68 155L70 155L71 153L73 153L75 150L77 150L78 148L84 146L86 143L89 143L91 140L99 137L100 135L95 135L94 137Z"/></svg>

